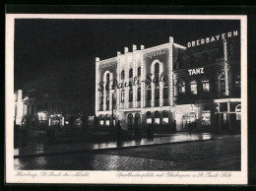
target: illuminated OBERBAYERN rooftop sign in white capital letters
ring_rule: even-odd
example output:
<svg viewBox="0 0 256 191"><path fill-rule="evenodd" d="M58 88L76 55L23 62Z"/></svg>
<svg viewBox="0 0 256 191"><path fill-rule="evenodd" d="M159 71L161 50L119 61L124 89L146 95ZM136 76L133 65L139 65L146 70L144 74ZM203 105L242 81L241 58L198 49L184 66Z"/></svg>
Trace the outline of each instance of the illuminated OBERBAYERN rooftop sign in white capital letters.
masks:
<svg viewBox="0 0 256 191"><path fill-rule="evenodd" d="M187 42L187 47L199 46L199 45L206 44L206 43L211 43L211 42L215 42L215 41L219 41L219 40L224 40L226 38L234 37L234 36L237 36L237 35L238 35L237 31L220 33L220 34L217 34L217 35L213 35L211 37L205 37L205 38L189 41L189 42Z"/></svg>

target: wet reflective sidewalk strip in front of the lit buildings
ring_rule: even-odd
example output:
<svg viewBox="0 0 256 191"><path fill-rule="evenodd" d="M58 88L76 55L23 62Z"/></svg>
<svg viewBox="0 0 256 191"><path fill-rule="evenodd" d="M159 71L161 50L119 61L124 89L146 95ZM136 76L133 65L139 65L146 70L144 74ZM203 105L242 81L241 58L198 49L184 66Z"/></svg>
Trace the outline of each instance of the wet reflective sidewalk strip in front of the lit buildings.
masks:
<svg viewBox="0 0 256 191"><path fill-rule="evenodd" d="M32 144L28 147L21 147L14 150L14 158L39 157L48 155L68 154L89 152L95 150L112 150L131 147L142 147L152 145L174 144L193 141L206 141L215 139L213 134L209 133L187 133L171 134L166 137L156 137L153 139L142 138L140 140L129 141L110 141L105 143L72 143L72 144Z"/></svg>

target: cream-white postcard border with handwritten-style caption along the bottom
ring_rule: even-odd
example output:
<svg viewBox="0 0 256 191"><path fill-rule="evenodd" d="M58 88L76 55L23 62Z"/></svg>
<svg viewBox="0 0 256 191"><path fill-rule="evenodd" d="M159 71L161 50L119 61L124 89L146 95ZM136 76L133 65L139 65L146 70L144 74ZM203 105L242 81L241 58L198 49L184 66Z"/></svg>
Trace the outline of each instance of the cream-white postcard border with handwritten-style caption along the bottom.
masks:
<svg viewBox="0 0 256 191"><path fill-rule="evenodd" d="M15 19L178 19L178 20L240 20L241 21L241 94L242 120L241 120L241 171L232 171L231 178L117 178L119 171L88 171L88 177L19 177L14 170L14 145L13 145L13 116L14 116L14 20ZM53 15L53 14L7 14L6 15L6 182L7 183L106 183L106 184L247 184L247 16L199 16L199 15ZM26 172L26 170L23 170ZM40 173L40 170L30 170ZM43 170L53 171L53 170ZM63 171L54 171L63 172ZM74 171L65 171L74 172ZM83 172L86 172L84 170ZM128 172L128 171L125 171ZM135 171L132 171L135 173ZM138 171L146 173L148 171ZM170 172L170 171L155 171ZM177 171L173 171L177 172ZM180 174L198 174L199 171L180 171ZM214 171L219 172L219 171ZM221 173L221 172L220 172Z"/></svg>

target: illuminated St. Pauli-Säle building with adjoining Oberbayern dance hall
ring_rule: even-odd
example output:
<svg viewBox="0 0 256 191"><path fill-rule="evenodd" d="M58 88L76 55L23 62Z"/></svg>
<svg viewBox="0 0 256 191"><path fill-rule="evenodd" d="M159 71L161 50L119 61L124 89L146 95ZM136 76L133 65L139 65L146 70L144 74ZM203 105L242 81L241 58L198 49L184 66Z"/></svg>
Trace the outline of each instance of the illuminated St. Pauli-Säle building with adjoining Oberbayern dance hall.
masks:
<svg viewBox="0 0 256 191"><path fill-rule="evenodd" d="M219 37L218 37L219 36ZM96 58L101 127L145 132L240 131L240 44L226 32L182 46L167 43ZM215 38L215 39L213 39Z"/></svg>

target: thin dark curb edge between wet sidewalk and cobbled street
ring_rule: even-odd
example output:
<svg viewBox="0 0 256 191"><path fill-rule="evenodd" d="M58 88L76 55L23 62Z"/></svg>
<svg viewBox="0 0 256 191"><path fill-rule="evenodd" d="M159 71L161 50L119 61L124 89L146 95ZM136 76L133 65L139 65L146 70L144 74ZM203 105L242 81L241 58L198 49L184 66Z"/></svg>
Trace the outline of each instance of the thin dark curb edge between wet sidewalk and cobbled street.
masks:
<svg viewBox="0 0 256 191"><path fill-rule="evenodd" d="M93 149L93 150L76 150L76 151L65 151L59 153L40 153L40 154L28 154L28 155L18 155L14 156L14 159L23 159L23 158L37 158L44 156L57 156L57 155L65 155L65 154L76 154L76 153L97 153L100 151L113 151L113 150L125 150L132 148L140 148L140 147L154 147L154 146L163 146L163 145L172 145L172 144L182 144L182 143L193 143L193 142L203 142L203 141L213 141L216 138L211 138L207 140L194 140L194 141L183 141L183 142L172 142L172 143L160 143L160 144L152 144L152 145L137 145L137 146L128 146L128 147L119 147L119 148L104 148L104 149Z"/></svg>

